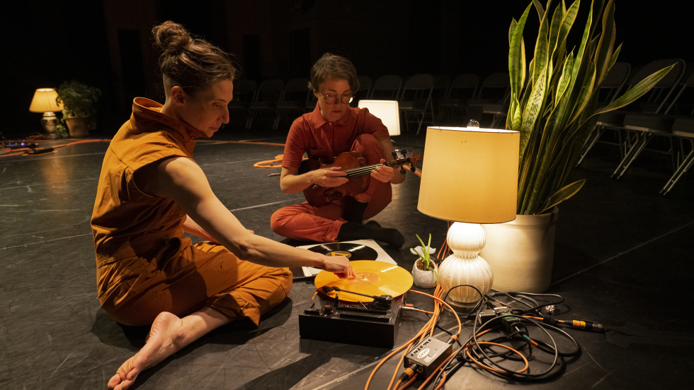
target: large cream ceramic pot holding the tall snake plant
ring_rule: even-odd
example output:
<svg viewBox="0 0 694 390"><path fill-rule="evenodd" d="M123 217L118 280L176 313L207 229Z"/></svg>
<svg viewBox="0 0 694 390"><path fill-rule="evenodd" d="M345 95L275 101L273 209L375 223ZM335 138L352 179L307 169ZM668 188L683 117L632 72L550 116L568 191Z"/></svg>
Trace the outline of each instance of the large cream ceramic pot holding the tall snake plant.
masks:
<svg viewBox="0 0 694 390"><path fill-rule="evenodd" d="M506 223L483 224L487 244L479 253L494 273L496 291L544 293L550 288L554 226L559 208L539 215L516 215Z"/></svg>

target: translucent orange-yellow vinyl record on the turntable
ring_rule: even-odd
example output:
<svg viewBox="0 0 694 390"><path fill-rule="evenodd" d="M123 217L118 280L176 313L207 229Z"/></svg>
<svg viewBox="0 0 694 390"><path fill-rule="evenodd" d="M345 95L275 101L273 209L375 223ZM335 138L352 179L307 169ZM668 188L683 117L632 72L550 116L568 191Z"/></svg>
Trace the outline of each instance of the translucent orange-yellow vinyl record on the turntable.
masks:
<svg viewBox="0 0 694 390"><path fill-rule="evenodd" d="M355 260L350 261L350 264L354 268L357 278L341 279L332 272L321 271L315 280L319 292L333 299L335 295L339 294L339 299L346 302L372 302L373 299L370 297L343 291L331 291L324 294L322 287L326 285L355 293L375 296L390 295L392 297L399 297L412 287L411 274L399 266L372 260Z"/></svg>

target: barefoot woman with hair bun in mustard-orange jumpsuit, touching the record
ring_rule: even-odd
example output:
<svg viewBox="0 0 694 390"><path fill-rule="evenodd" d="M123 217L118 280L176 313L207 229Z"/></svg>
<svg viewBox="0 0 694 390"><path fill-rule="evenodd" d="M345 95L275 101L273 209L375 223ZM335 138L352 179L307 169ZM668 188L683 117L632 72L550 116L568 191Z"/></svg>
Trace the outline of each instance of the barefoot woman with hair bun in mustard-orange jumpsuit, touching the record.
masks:
<svg viewBox="0 0 694 390"><path fill-rule="evenodd" d="M166 102L136 98L106 152L91 219L101 307L127 325L152 324L111 389L229 321L260 315L292 286L286 267L354 271L329 257L258 237L210 189L193 138L229 122L235 69L227 54L171 21L154 28ZM193 245L188 232L209 241Z"/></svg>

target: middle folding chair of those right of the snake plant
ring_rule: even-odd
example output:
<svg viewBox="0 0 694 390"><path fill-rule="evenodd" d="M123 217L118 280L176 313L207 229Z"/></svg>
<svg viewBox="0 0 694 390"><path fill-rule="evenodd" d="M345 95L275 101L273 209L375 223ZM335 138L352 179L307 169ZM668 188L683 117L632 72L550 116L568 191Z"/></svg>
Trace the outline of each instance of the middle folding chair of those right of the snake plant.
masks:
<svg viewBox="0 0 694 390"><path fill-rule="evenodd" d="M655 112L642 112L625 115L623 128L627 131L632 131L634 134L634 141L631 147L626 151L620 165L617 167L615 172L613 172L612 177L620 179L620 177L627 172L629 167L632 165L632 162L636 160L636 158L641 154L654 136L659 135L671 138L674 118L668 116L667 114L681 93L678 93L676 98L672 100L670 98L680 83L684 72L686 71L686 62L683 59L660 59L657 61L652 61L647 66L644 66L644 68L641 69L637 75L640 77L639 80L642 80L649 74L664 69L672 64L675 64L673 69L652 88L650 91L651 96L646 102L642 103L642 107L646 107L647 110L657 106ZM670 139L670 143L670 153L673 155L673 165L676 165L672 138Z"/></svg>

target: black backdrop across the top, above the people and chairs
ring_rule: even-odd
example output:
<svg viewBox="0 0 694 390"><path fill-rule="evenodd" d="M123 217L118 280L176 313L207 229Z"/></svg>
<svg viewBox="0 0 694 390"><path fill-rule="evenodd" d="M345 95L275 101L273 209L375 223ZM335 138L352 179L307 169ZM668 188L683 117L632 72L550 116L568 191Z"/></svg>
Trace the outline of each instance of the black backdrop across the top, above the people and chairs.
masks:
<svg viewBox="0 0 694 390"><path fill-rule="evenodd" d="M544 1L543 1L544 3ZM152 26L174 20L234 54L241 78L308 76L324 52L342 54L374 81L385 74L506 71L508 25L529 0L36 0L1 12L6 138L40 132L28 106L36 88L76 79L101 88L97 134L112 136L135 96L163 102ZM567 1L567 6L571 2ZM661 58L692 58L694 27L685 1L616 1L620 61L632 67ZM586 22L590 2L569 37ZM525 47L532 57L537 13L530 11ZM690 62L690 61L688 61Z"/></svg>

